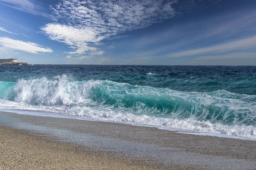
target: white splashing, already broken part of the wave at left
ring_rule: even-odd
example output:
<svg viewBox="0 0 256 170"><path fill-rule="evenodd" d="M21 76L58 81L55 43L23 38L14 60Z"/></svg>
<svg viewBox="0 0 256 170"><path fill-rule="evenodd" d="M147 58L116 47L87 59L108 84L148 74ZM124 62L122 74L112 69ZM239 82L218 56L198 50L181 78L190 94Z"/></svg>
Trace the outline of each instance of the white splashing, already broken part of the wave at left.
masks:
<svg viewBox="0 0 256 170"><path fill-rule="evenodd" d="M15 102L36 106L60 106L72 103L86 103L90 88L96 82L69 81L68 76L18 80L14 86Z"/></svg>

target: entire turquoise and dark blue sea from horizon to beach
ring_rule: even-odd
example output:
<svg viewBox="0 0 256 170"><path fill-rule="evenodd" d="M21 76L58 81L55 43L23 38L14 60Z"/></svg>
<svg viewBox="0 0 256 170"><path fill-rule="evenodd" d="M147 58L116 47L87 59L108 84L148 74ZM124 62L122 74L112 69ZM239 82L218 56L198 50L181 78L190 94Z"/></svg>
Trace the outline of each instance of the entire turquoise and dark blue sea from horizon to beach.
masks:
<svg viewBox="0 0 256 170"><path fill-rule="evenodd" d="M0 66L0 111L256 140L256 66Z"/></svg>

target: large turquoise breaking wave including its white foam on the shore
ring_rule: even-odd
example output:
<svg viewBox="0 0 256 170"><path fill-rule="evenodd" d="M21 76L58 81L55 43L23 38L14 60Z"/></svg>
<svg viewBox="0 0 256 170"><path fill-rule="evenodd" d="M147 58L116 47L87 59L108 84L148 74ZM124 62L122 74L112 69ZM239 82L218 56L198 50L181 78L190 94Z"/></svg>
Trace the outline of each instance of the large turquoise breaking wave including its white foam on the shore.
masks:
<svg viewBox="0 0 256 170"><path fill-rule="evenodd" d="M0 108L256 139L256 96L225 90L182 92L67 75L0 82Z"/></svg>

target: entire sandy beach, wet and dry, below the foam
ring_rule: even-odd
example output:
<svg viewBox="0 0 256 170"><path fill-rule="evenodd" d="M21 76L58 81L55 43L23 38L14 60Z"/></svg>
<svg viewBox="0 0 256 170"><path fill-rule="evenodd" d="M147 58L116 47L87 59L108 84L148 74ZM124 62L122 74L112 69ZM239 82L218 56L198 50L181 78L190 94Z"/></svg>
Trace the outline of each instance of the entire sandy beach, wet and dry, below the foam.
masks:
<svg viewBox="0 0 256 170"><path fill-rule="evenodd" d="M256 141L0 112L0 170L256 169Z"/></svg>

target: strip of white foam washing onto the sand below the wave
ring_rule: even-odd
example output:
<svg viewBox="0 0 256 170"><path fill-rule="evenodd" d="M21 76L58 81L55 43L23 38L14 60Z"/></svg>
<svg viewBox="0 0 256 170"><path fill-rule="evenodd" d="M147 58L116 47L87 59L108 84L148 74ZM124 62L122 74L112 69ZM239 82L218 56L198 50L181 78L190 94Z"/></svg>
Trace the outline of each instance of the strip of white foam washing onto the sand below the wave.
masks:
<svg viewBox="0 0 256 170"><path fill-rule="evenodd" d="M10 109L16 113L34 114L51 117L65 117L77 119L89 119L98 121L111 121L117 123L128 123L132 125L154 126L160 129L175 130L182 133L194 133L201 135L220 135L223 137L237 137L238 139L256 140L256 127L245 125L223 125L221 123L211 123L210 121L197 121L195 119L172 119L154 117L148 115L134 115L132 113L116 112L111 109L93 107L45 107L19 104L6 100L0 100L0 108ZM3 111L1 109L1 111ZM20 111L19 111L20 110ZM8 110L4 110L8 111ZM56 115L56 113L61 113ZM71 117L66 117L70 115ZM72 117L76 116L76 117Z"/></svg>

